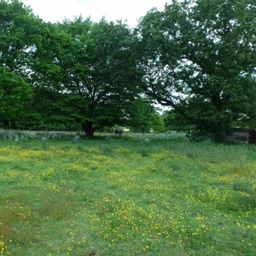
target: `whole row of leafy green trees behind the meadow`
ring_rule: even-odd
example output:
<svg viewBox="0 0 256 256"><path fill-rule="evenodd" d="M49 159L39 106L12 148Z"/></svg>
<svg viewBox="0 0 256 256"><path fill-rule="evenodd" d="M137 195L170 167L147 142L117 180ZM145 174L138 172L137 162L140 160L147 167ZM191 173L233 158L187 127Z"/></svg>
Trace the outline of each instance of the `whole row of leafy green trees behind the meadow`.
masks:
<svg viewBox="0 0 256 256"><path fill-rule="evenodd" d="M194 136L254 127L255 11L255 0L172 1L131 29L104 18L52 24L1 0L0 123L145 131L161 123L157 103L171 109L166 125Z"/></svg>

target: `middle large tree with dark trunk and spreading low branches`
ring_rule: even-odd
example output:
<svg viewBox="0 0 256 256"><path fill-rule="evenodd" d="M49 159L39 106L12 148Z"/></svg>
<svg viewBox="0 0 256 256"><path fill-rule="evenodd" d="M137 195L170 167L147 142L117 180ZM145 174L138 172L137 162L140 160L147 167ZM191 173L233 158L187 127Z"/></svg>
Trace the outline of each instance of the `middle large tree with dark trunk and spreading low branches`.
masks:
<svg viewBox="0 0 256 256"><path fill-rule="evenodd" d="M129 28L122 22L77 17L64 20L58 29L62 45L51 49L56 75L40 70L39 86L41 93L47 92L51 119L80 123L86 136L104 126L124 125L141 83Z"/></svg>

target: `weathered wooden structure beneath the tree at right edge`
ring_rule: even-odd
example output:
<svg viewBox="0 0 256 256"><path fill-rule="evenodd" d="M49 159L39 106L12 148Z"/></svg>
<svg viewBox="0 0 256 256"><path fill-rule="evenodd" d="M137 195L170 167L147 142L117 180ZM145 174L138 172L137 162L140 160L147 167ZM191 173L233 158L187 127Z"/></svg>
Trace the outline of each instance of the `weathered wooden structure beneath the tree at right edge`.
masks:
<svg viewBox="0 0 256 256"><path fill-rule="evenodd" d="M246 141L248 143L256 142L256 130L249 128L234 128L232 134L226 135L227 141Z"/></svg>

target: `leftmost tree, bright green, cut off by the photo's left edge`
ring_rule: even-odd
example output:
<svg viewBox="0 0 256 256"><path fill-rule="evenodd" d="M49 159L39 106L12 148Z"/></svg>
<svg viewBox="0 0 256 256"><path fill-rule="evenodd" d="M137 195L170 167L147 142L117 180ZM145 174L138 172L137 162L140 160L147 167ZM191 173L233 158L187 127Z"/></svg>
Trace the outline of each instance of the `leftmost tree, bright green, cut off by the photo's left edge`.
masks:
<svg viewBox="0 0 256 256"><path fill-rule="evenodd" d="M0 1L0 122L24 118L31 100L29 75L40 47L42 20L17 0Z"/></svg>

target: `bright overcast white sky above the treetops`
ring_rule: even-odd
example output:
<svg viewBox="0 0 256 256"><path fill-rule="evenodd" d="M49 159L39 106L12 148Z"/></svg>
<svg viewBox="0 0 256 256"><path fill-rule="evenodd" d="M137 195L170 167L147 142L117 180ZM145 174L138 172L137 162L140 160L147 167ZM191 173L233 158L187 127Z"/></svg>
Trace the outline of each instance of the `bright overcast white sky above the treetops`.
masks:
<svg viewBox="0 0 256 256"><path fill-rule="evenodd" d="M137 19L144 16L151 8L164 10L165 3L171 0L20 0L26 6L30 5L33 13L41 19L50 22L62 21L64 17L90 16L93 21L99 21L102 16L108 21L127 20L131 28L136 27Z"/></svg>

